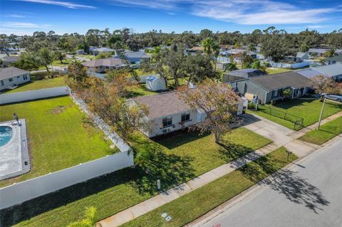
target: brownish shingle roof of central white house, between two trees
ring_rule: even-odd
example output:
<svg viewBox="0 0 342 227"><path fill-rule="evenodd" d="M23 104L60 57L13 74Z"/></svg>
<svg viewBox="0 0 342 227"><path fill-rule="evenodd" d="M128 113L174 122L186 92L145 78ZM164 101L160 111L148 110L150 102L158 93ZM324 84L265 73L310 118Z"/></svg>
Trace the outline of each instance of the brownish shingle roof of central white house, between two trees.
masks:
<svg viewBox="0 0 342 227"><path fill-rule="evenodd" d="M190 110L190 107L180 99L177 92L134 97L133 100L146 105L150 119Z"/></svg>

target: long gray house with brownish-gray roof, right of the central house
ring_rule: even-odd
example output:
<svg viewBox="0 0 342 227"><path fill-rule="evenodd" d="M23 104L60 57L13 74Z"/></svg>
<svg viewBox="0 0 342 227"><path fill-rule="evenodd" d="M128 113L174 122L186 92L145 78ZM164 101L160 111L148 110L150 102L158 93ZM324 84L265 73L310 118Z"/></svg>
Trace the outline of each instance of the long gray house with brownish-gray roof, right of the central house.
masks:
<svg viewBox="0 0 342 227"><path fill-rule="evenodd" d="M306 95L311 80L294 71L271 75L255 76L230 83L232 87L246 97L257 97L262 104L281 99L284 90L290 89L290 98Z"/></svg>

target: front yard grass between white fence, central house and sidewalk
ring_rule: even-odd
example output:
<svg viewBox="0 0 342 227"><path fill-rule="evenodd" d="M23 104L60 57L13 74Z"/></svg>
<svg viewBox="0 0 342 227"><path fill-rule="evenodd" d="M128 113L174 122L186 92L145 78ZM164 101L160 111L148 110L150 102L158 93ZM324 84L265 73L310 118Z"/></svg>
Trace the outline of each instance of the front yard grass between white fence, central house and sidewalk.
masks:
<svg viewBox="0 0 342 227"><path fill-rule="evenodd" d="M66 226L82 218L88 206L98 208L100 220L157 194L157 179L162 189L169 189L271 142L244 128L226 139L231 141L224 147L215 144L209 134L180 132L154 142L137 133L131 142L135 150L159 151L150 162L150 174L140 167L115 171L6 209L0 221L5 226Z"/></svg>

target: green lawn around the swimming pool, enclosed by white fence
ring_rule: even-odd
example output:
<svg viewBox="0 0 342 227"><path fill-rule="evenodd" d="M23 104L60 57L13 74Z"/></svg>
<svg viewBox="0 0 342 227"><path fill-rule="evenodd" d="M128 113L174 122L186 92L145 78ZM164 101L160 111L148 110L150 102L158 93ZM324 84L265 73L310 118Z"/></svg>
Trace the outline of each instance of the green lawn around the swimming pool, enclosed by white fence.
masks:
<svg viewBox="0 0 342 227"><path fill-rule="evenodd" d="M117 152L69 97L2 105L0 112L0 122L12 120L13 112L26 119L32 167L28 174L0 181L0 186Z"/></svg>

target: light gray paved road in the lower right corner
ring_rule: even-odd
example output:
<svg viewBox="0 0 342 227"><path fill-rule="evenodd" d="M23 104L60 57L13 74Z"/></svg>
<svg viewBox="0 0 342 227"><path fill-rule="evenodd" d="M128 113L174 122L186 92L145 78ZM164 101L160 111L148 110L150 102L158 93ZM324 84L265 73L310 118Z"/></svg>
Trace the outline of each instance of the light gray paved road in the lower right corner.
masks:
<svg viewBox="0 0 342 227"><path fill-rule="evenodd" d="M342 139L303 161L202 226L342 226Z"/></svg>

